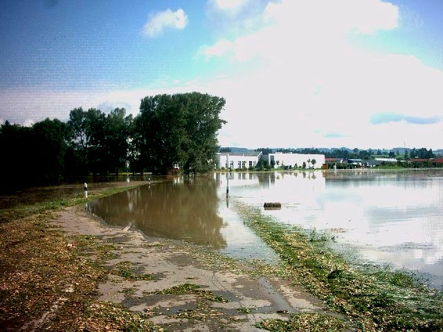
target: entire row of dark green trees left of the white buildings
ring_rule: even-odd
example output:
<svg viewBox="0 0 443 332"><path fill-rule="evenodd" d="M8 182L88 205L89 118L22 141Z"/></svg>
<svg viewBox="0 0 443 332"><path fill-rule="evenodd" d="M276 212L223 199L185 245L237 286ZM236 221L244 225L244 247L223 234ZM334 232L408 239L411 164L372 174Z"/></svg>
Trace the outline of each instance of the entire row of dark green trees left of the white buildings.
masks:
<svg viewBox="0 0 443 332"><path fill-rule="evenodd" d="M66 122L46 118L22 127L6 121L0 126L0 170L17 174L9 184L122 171L165 174L174 167L206 172L225 123L219 118L224 104L224 98L196 92L155 95L141 100L135 118L125 109L80 107Z"/></svg>

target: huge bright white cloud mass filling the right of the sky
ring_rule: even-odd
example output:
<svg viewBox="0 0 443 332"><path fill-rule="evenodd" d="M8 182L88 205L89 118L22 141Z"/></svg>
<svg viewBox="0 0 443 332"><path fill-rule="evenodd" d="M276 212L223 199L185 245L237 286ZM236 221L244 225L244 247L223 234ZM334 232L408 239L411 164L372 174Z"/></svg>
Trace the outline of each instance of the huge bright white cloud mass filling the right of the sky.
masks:
<svg viewBox="0 0 443 332"><path fill-rule="evenodd" d="M221 145L381 147L402 146L408 137L411 144L427 146L440 140L442 122L370 123L374 113L383 112L412 119L443 115L437 88L443 86L442 71L411 55L363 51L348 43L350 34L397 28L399 9L391 3L283 0L269 3L261 21L253 33L203 48L206 59L263 64L211 84L227 100Z"/></svg>

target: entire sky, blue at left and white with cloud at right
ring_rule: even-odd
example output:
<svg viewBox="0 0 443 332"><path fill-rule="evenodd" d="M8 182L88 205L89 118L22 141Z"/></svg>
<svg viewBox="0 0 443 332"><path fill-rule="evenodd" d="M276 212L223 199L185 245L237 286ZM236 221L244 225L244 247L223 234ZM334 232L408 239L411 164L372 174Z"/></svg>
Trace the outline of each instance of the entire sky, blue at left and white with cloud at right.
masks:
<svg viewBox="0 0 443 332"><path fill-rule="evenodd" d="M226 99L230 147L443 148L441 0L0 0L0 123Z"/></svg>

